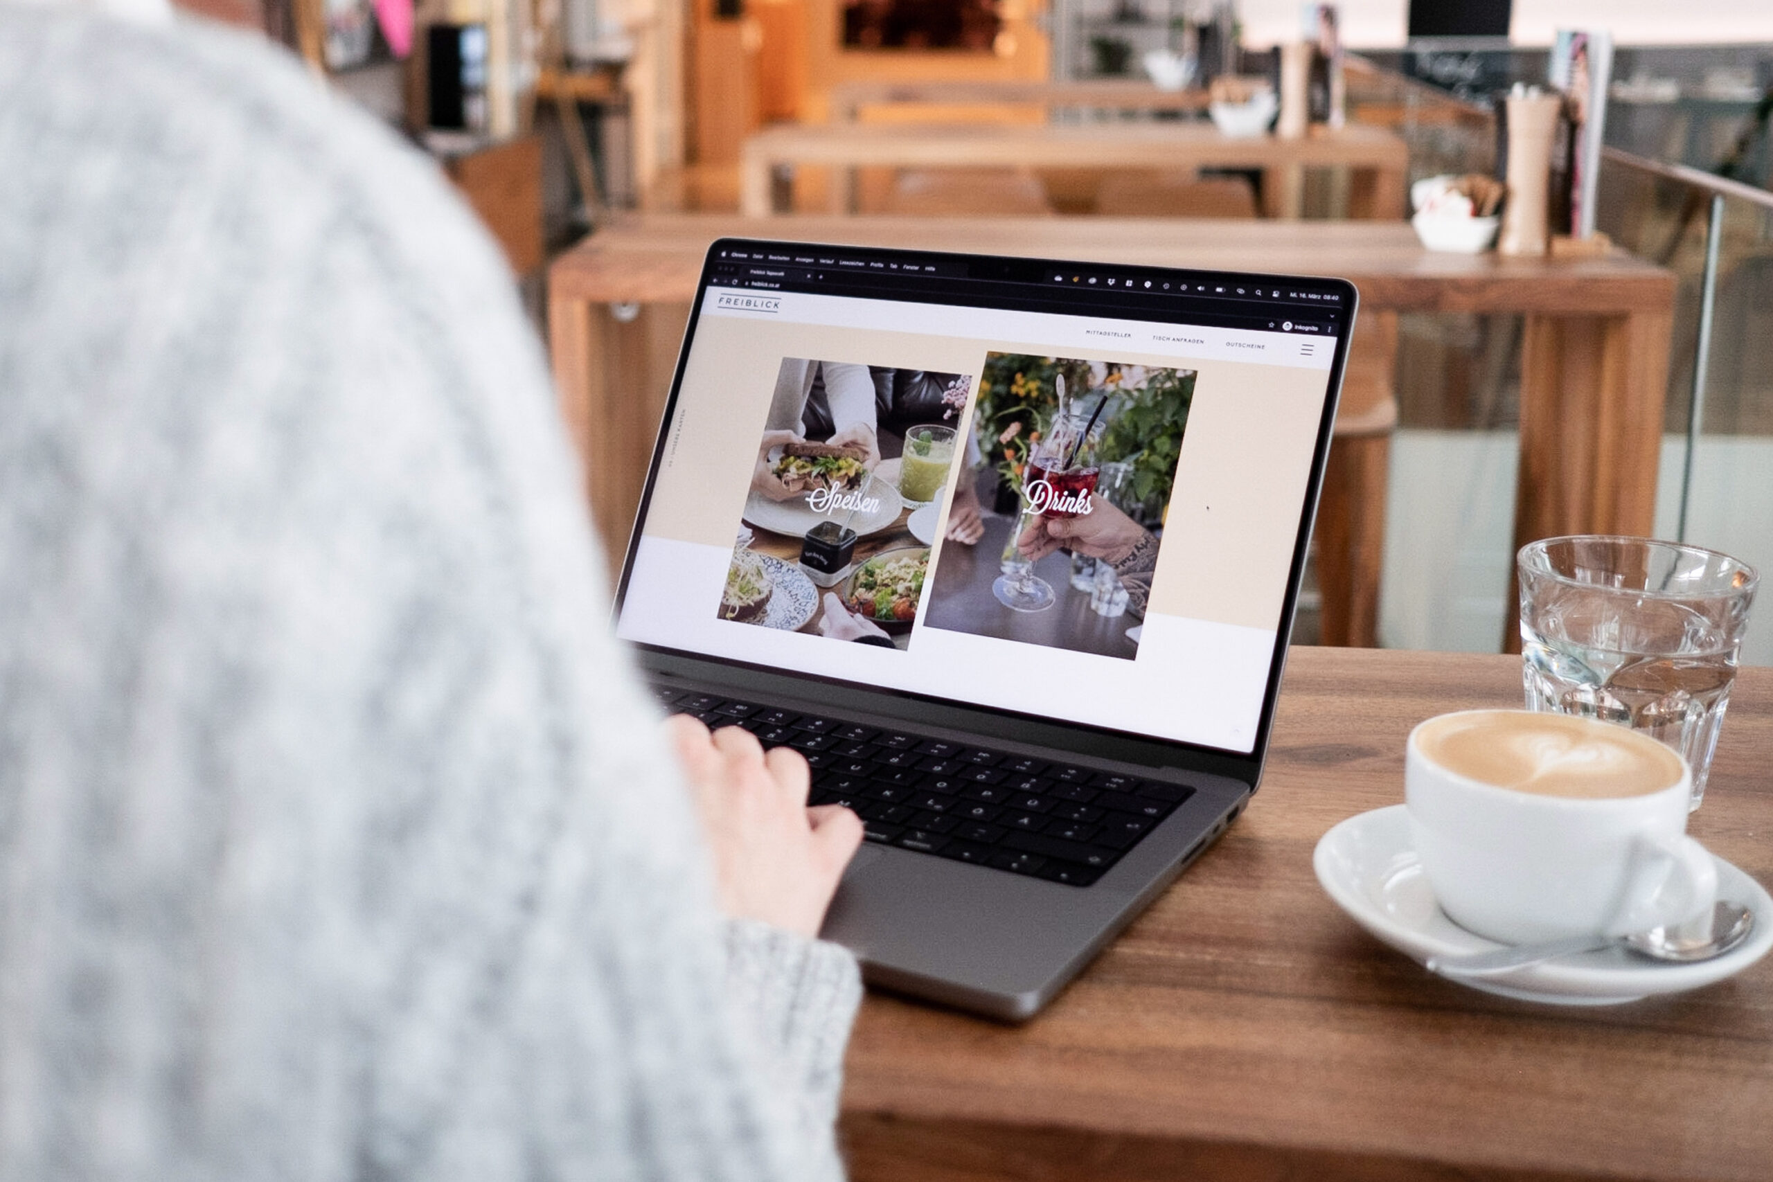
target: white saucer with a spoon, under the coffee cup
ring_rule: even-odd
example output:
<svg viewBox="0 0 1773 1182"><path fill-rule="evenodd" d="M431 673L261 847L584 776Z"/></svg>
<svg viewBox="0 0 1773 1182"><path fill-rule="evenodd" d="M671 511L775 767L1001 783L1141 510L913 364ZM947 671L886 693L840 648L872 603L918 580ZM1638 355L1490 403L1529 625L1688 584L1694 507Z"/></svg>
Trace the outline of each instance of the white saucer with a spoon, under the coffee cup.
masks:
<svg viewBox="0 0 1773 1182"><path fill-rule="evenodd" d="M1624 948L1608 948L1532 964L1507 976L1447 980L1523 1001L1617 1005L1734 976L1773 948L1773 898L1752 877L1716 854L1713 858L1718 863L1718 897L1755 913L1748 943L1730 953L1699 964L1658 964ZM1335 826L1317 840L1312 865L1324 891L1349 918L1418 964L1434 955L1500 946L1441 914L1422 861L1410 845L1410 817L1402 805L1376 808Z"/></svg>

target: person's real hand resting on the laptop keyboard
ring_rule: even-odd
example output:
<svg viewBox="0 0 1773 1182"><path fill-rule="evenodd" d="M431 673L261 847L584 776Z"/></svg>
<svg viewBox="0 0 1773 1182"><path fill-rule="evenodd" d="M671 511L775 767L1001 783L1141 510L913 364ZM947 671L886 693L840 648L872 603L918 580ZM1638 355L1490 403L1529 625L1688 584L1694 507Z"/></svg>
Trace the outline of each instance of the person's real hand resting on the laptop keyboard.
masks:
<svg viewBox="0 0 1773 1182"><path fill-rule="evenodd" d="M862 845L862 820L837 805L807 808L810 773L800 751L764 753L741 727L709 734L683 714L665 730L715 854L720 909L816 937Z"/></svg>

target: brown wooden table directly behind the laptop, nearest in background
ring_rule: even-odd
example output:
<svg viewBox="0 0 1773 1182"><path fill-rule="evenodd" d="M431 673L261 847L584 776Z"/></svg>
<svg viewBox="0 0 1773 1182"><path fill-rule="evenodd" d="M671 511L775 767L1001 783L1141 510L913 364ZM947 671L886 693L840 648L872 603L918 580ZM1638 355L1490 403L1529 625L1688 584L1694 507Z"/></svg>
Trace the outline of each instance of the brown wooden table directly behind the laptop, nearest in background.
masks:
<svg viewBox="0 0 1773 1182"><path fill-rule="evenodd" d="M1558 261L1443 255L1425 252L1408 225L1371 222L759 222L676 214L599 230L550 271L555 379L567 424L587 457L590 502L612 555L619 556L628 544L702 253L727 234L1340 275L1360 287L1362 324L1383 324L1399 312L1519 312L1527 331L1518 544L1558 533L1654 528L1674 275L1622 252ZM1351 383L1349 393L1353 388ZM1346 399L1342 409L1369 408ZM1376 464L1383 477L1383 452ZM1344 514L1362 530L1321 555L1324 564L1344 562L1363 571L1346 579L1355 587L1378 583L1383 539L1383 478L1363 487L1376 487L1378 502ZM1326 502L1321 523L1335 519L1330 509ZM1356 633L1353 643L1363 643L1376 599L1369 597L1355 615L1367 631Z"/></svg>

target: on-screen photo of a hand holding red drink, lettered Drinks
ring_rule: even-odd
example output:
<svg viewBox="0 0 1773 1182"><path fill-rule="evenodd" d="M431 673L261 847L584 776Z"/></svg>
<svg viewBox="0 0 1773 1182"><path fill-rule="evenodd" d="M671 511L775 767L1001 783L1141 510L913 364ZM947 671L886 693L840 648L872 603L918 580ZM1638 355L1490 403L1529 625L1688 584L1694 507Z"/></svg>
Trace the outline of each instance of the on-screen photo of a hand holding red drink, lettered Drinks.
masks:
<svg viewBox="0 0 1773 1182"><path fill-rule="evenodd" d="M927 627L1133 659L1195 370L989 353Z"/></svg>

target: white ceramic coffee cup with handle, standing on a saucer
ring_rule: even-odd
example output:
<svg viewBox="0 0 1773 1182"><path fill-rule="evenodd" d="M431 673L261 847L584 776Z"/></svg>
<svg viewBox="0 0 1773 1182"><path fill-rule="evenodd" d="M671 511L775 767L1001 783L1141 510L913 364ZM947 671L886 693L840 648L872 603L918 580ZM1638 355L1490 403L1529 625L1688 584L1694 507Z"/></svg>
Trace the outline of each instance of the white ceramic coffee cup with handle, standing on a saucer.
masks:
<svg viewBox="0 0 1773 1182"><path fill-rule="evenodd" d="M1528 711L1464 711L1463 716ZM1716 865L1686 836L1691 771L1665 789L1636 796L1571 797L1496 787L1449 769L1418 739L1431 718L1410 732L1404 796L1410 833L1441 911L1459 927L1523 945L1571 936L1624 936L1683 923L1711 909ZM1654 739L1592 719L1606 741L1644 743L1649 758L1667 758ZM1523 723L1527 725L1527 723Z"/></svg>

